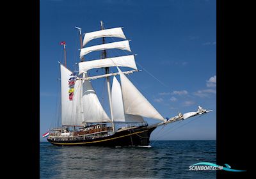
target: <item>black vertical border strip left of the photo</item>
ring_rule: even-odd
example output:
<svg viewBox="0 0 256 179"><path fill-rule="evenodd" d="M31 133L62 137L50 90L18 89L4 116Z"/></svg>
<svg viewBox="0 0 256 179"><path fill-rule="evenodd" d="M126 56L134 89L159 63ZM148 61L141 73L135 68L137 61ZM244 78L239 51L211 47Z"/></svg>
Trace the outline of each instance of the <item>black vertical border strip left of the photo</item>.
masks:
<svg viewBox="0 0 256 179"><path fill-rule="evenodd" d="M6 37L3 51L8 52L2 58L7 63L1 68L6 70L4 81L10 81L11 86L4 87L8 93L3 93L6 99L2 104L8 109L2 111L6 137L1 139L1 146L8 148L2 153L8 169L4 169L4 176L8 178L40 178L39 4L40 0L3 4L2 17L7 22L1 26L6 29L2 33Z"/></svg>

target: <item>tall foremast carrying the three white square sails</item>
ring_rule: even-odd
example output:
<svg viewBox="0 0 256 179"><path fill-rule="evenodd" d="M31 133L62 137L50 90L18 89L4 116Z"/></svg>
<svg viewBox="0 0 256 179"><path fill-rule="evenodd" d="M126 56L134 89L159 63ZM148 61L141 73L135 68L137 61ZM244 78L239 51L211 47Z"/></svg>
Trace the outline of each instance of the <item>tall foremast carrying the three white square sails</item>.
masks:
<svg viewBox="0 0 256 179"><path fill-rule="evenodd" d="M102 20L100 20L100 26L101 26L101 29L103 30L104 27L103 27ZM103 44L105 43L105 38L104 37L102 37L102 43ZM102 51L101 57L102 58L107 58L106 50ZM106 67L105 70L106 70L106 74L109 74L109 67ZM113 110L112 110L112 103L111 103L111 89L110 89L110 79L109 79L109 77L107 77L107 85L108 85L108 100L109 100L109 108L110 108L110 114L111 114L112 128L113 128L113 132L115 132L115 125L114 125L114 121L113 121Z"/></svg>

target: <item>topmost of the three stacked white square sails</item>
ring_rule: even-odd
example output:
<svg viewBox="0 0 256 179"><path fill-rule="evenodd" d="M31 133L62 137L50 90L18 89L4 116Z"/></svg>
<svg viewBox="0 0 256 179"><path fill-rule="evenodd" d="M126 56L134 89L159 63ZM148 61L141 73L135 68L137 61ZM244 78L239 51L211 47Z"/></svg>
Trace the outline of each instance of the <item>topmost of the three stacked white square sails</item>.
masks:
<svg viewBox="0 0 256 179"><path fill-rule="evenodd" d="M100 38L100 37L118 37L118 38L126 39L121 27L112 28L112 29L104 29L101 31L94 31L92 33L86 33L84 35L83 47L90 40L93 40L95 38Z"/></svg>

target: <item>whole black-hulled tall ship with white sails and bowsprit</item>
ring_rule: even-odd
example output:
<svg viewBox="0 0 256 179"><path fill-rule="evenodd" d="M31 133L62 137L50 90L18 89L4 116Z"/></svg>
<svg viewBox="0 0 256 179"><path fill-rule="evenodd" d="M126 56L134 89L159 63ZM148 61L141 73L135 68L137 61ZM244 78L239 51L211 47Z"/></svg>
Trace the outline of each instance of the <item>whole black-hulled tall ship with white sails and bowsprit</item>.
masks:
<svg viewBox="0 0 256 179"><path fill-rule="evenodd" d="M131 52L130 40L125 37L123 27L104 29L102 21L100 27L99 31L85 33L84 37L81 28L76 27L81 43L77 72L67 68L66 45L61 42L65 52L65 64L59 62L61 125L44 134L49 143L56 146L149 146L150 134L157 127L210 112L199 106L195 112L164 118L127 77L141 70L136 66L135 55L127 54ZM102 44L86 47L97 38L102 39ZM114 42L105 43L106 38ZM116 42L114 38L122 40ZM113 49L125 51L126 55L108 57L107 51ZM86 60L85 56L94 51L101 51L100 59ZM131 69L124 71L120 69L123 67ZM97 68L103 68L104 74L90 75L89 71ZM116 68L116 72L109 68ZM102 78L106 79L109 113L102 107L92 85ZM152 118L156 123L148 125L144 118Z"/></svg>

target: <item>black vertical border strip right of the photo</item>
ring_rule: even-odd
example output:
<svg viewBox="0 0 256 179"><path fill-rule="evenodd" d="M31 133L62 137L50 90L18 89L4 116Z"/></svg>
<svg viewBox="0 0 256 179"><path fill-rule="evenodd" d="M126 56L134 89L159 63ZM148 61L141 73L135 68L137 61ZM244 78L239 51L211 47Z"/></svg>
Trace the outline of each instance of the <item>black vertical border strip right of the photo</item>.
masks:
<svg viewBox="0 0 256 179"><path fill-rule="evenodd" d="M217 171L217 178L246 178L252 143L250 125L253 106L252 72L249 65L248 17L244 5L236 1L217 1L217 164L246 172ZM252 81L251 81L252 80ZM247 82L250 82L249 86Z"/></svg>

